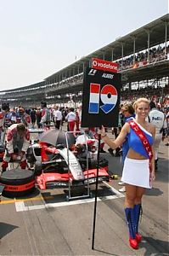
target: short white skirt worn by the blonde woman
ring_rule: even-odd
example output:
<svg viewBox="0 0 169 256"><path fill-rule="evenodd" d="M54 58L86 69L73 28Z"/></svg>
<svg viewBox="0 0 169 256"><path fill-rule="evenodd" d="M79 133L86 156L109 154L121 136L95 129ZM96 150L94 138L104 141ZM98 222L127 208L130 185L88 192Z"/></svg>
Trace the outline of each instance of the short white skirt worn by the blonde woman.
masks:
<svg viewBox="0 0 169 256"><path fill-rule="evenodd" d="M149 183L149 160L134 160L127 158L124 161L121 181L146 189L151 189Z"/></svg>

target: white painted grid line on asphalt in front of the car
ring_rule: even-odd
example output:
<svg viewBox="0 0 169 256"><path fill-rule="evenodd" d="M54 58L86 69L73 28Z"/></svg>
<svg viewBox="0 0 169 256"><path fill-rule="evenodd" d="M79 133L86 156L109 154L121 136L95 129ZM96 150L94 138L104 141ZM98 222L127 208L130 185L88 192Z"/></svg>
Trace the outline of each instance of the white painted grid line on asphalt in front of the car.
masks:
<svg viewBox="0 0 169 256"><path fill-rule="evenodd" d="M110 186L109 183L104 182L106 186L108 186L115 195L108 195L108 196L102 196L98 197L97 201L104 201L104 200L112 200L116 198L121 198L124 197L123 194L121 194L118 190L114 189L113 187ZM43 203L42 205L36 205L36 206L25 206L24 201L19 201L15 202L15 207L16 207L16 212L25 212L25 211L33 211L33 210L40 210L40 209L45 209L45 208L54 208L54 207L69 207L73 205L78 205L78 204L86 204L86 203L91 203L94 202L95 198L87 198L87 199L82 199L82 200L75 200L75 201L63 201L63 202L56 202L56 203Z"/></svg>

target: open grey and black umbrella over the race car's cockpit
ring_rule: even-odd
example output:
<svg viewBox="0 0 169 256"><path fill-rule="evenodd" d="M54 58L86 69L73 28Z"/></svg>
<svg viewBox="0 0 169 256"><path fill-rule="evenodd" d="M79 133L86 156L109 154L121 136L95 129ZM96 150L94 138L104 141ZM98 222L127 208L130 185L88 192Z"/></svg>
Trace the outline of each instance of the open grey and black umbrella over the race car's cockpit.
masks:
<svg viewBox="0 0 169 256"><path fill-rule="evenodd" d="M67 142L69 147L76 143L76 139L73 133L61 131L59 129L44 131L39 136L39 141L42 143L51 144L54 147L59 144L64 145L66 147L67 146L66 137L67 137Z"/></svg>

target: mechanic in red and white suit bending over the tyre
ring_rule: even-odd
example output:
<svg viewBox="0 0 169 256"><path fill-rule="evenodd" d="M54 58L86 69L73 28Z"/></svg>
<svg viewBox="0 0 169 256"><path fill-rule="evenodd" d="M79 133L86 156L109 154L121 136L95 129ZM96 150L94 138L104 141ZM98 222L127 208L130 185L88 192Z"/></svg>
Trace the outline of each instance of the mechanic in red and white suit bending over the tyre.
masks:
<svg viewBox="0 0 169 256"><path fill-rule="evenodd" d="M20 160L21 169L26 167L25 153L30 145L30 132L23 123L11 125L7 132L7 145L3 156L2 171L10 160Z"/></svg>

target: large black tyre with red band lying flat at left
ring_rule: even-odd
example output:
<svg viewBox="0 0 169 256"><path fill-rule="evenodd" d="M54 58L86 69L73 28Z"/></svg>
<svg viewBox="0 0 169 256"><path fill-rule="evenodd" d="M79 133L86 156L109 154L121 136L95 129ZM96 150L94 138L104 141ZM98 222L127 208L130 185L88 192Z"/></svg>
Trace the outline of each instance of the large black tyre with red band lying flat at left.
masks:
<svg viewBox="0 0 169 256"><path fill-rule="evenodd" d="M35 189L35 175L30 170L11 169L2 173L0 183L5 185L3 196L29 195Z"/></svg>

